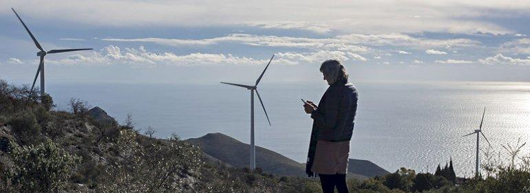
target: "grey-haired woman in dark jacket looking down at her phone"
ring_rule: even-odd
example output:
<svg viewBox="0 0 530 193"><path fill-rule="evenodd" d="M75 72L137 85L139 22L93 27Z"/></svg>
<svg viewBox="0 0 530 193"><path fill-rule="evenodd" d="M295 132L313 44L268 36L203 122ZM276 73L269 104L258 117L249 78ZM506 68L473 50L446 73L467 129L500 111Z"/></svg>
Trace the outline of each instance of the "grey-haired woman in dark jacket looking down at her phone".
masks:
<svg viewBox="0 0 530 193"><path fill-rule="evenodd" d="M339 61L326 60L320 71L330 87L318 106L304 102L304 111L313 119L306 173L318 174L324 193L334 192L335 187L339 192L348 192L346 172L357 90L348 82L348 72Z"/></svg>

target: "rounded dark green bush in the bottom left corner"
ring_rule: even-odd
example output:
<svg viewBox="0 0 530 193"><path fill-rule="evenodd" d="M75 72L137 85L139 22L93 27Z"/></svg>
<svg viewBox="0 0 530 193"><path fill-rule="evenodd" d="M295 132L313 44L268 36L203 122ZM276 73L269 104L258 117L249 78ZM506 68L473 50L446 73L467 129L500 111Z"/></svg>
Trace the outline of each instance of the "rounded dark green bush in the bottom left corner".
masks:
<svg viewBox="0 0 530 193"><path fill-rule="evenodd" d="M14 172L6 174L20 192L57 192L67 183L78 158L47 140L39 146L12 143Z"/></svg>

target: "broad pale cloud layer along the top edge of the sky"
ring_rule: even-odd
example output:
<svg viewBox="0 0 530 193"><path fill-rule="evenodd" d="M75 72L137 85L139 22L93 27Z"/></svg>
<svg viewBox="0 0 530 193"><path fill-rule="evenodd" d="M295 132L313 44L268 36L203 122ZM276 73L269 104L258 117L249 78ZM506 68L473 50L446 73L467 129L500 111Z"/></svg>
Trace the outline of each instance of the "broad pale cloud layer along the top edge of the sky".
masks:
<svg viewBox="0 0 530 193"><path fill-rule="evenodd" d="M113 27L211 27L250 25L281 29L326 29L354 33L389 32L491 32L512 30L494 22L509 13L528 16L528 3L519 1L34 1L4 0L3 8L19 8L21 14L61 23ZM118 9L115 8L127 8ZM0 10L0 14L12 14ZM263 23L271 23L263 25Z"/></svg>

